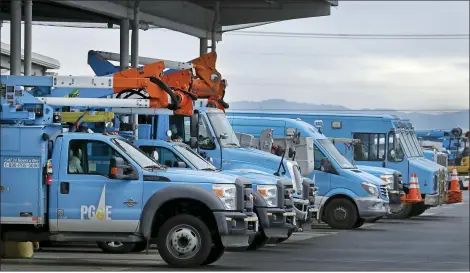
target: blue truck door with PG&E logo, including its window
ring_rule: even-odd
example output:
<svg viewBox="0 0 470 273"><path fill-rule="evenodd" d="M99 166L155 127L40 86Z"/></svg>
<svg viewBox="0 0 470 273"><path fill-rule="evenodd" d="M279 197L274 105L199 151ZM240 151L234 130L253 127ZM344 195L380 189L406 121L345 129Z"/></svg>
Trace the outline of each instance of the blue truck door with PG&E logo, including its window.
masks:
<svg viewBox="0 0 470 273"><path fill-rule="evenodd" d="M109 177L112 156L128 157L110 144L64 139L58 196L60 232L135 232L142 211L143 182ZM139 170L139 169L138 169Z"/></svg>

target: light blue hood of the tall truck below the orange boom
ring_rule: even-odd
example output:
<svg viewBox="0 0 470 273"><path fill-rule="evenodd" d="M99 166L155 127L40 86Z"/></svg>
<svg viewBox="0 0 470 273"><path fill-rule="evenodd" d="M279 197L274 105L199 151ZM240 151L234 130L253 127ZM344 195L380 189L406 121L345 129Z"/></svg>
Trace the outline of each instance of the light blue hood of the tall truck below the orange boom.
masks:
<svg viewBox="0 0 470 273"><path fill-rule="evenodd" d="M257 170L271 175L277 171L281 162L281 157L254 148L225 148L223 157L222 169L224 170ZM285 159L283 162L283 165L286 166ZM291 179L287 168L286 174L283 175L281 167L280 174L281 177Z"/></svg>

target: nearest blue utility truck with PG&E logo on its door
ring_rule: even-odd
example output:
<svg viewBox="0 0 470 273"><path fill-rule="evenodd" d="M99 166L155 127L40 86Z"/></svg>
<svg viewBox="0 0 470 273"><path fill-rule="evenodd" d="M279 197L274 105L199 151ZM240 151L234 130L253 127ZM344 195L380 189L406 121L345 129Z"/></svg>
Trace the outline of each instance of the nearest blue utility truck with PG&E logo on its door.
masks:
<svg viewBox="0 0 470 273"><path fill-rule="evenodd" d="M248 246L256 234L249 180L167 168L117 135L66 132L50 106L24 92L112 93L100 84L112 78L1 76L1 83L3 241L153 242L168 264L192 267Z"/></svg>

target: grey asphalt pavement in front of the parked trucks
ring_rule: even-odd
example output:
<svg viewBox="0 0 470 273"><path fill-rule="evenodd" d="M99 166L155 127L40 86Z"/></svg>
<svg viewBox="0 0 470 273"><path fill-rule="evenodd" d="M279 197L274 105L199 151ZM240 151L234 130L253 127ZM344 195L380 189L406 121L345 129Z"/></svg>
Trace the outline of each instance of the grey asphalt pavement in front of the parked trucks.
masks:
<svg viewBox="0 0 470 273"><path fill-rule="evenodd" d="M324 225L284 243L226 252L204 271L469 271L469 194L407 220L349 231ZM170 271L157 250L104 254L91 246L45 248L32 259L2 259L2 271Z"/></svg>

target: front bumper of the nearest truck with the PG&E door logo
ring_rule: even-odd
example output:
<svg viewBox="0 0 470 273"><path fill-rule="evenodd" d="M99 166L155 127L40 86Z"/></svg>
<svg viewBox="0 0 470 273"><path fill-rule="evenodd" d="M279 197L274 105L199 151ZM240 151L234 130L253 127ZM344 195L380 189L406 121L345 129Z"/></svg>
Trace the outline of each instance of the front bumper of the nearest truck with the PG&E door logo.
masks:
<svg viewBox="0 0 470 273"><path fill-rule="evenodd" d="M225 247L247 247L248 238L259 229L259 220L254 212L214 212L219 235Z"/></svg>

